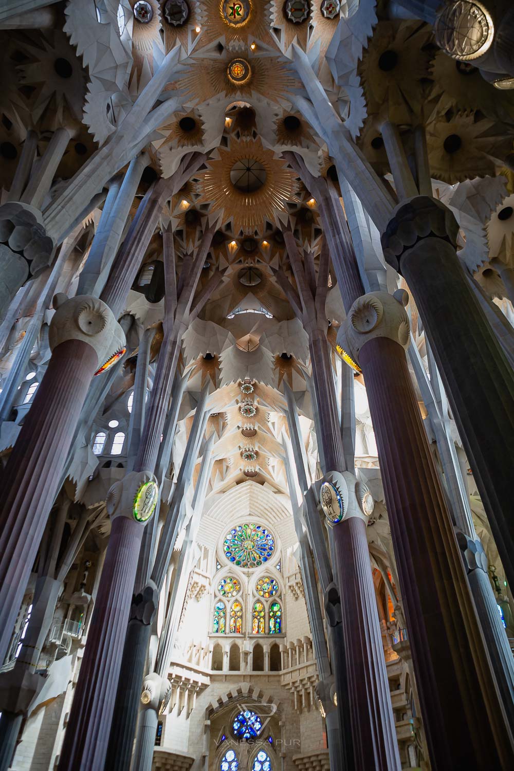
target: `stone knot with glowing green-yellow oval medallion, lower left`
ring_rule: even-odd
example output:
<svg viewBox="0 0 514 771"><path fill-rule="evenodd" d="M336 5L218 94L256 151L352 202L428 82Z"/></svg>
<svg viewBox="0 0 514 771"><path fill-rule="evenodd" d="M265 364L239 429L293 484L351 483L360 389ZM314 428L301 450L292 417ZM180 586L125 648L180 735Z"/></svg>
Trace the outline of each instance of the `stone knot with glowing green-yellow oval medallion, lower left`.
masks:
<svg viewBox="0 0 514 771"><path fill-rule="evenodd" d="M159 485L149 471L131 471L113 484L107 493L106 507L111 520L126 517L143 526L152 517L159 500Z"/></svg>

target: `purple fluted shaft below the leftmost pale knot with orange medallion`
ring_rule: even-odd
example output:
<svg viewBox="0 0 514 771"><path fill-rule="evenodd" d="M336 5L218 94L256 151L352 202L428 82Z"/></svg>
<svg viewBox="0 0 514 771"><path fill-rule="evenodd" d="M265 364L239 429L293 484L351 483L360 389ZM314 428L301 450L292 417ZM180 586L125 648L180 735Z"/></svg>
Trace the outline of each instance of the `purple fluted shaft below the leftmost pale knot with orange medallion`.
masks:
<svg viewBox="0 0 514 771"><path fill-rule="evenodd" d="M58 493L62 463L98 359L91 345L62 342L52 353L3 473L0 510L0 661L3 661Z"/></svg>

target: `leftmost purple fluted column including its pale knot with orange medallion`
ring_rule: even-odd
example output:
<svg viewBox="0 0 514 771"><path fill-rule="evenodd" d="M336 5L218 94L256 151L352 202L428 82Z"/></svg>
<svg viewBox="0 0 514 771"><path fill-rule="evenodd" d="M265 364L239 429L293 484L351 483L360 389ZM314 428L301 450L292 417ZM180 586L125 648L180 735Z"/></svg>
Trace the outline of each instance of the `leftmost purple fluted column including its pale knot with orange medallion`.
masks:
<svg viewBox="0 0 514 771"><path fill-rule="evenodd" d="M104 303L78 296L59 305L50 325L49 342L52 358L3 474L2 661L92 375L123 347L125 335Z"/></svg>

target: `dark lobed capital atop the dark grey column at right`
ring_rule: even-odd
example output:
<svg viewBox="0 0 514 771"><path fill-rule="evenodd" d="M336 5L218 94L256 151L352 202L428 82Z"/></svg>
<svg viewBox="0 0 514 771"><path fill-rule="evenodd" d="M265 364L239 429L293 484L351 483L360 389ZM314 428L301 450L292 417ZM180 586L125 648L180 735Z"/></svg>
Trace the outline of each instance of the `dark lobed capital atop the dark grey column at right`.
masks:
<svg viewBox="0 0 514 771"><path fill-rule="evenodd" d="M459 224L445 204L431 196L418 195L402 201L381 236L385 260L401 273L401 256L424 238L440 238L457 245Z"/></svg>

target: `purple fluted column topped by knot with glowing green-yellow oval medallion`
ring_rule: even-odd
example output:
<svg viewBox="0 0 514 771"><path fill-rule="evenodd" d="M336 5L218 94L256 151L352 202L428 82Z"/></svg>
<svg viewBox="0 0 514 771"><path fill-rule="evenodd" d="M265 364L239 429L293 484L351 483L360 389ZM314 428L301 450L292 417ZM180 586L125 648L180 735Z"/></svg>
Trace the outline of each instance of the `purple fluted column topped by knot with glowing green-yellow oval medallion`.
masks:
<svg viewBox="0 0 514 771"><path fill-rule="evenodd" d="M137 557L143 528L158 498L155 477L146 472L129 473L109 490L107 510L113 527L59 771L98 771L105 763Z"/></svg>

